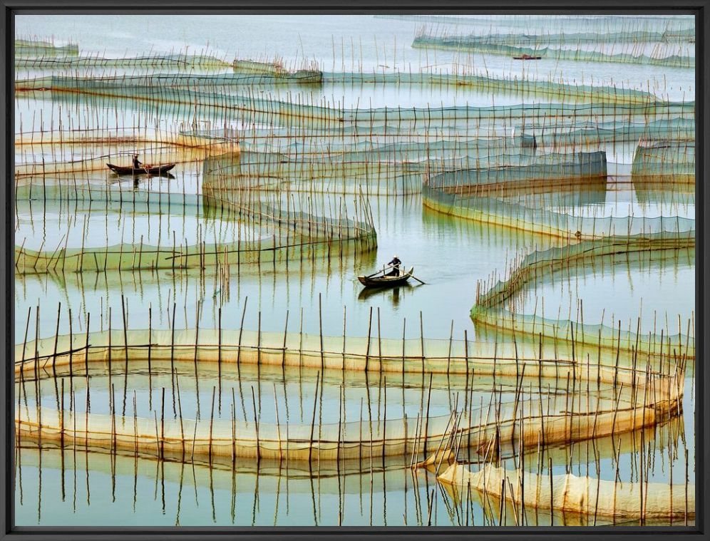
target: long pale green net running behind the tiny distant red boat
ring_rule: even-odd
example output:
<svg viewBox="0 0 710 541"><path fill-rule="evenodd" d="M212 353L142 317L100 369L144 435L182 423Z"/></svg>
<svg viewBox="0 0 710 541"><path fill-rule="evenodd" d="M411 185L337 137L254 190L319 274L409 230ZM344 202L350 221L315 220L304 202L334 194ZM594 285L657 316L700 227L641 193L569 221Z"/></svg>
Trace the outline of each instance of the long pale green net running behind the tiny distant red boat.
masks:
<svg viewBox="0 0 710 541"><path fill-rule="evenodd" d="M577 62L618 62L634 63L641 66L667 66L671 68L694 68L695 56L668 54L666 56L649 56L634 53L602 53L587 51L582 48L565 49L540 47L518 47L503 43L490 43L470 39L470 36L417 36L412 43L413 48L442 48L456 51L472 51L476 53L500 54L505 56L528 55L533 58L552 58L556 61Z"/></svg>

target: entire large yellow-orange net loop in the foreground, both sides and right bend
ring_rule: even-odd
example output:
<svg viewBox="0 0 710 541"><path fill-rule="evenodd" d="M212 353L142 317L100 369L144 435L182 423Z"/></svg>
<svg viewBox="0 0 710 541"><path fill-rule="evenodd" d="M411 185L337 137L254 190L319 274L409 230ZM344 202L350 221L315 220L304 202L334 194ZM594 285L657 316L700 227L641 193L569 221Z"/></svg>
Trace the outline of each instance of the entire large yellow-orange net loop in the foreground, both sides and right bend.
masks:
<svg viewBox="0 0 710 541"><path fill-rule="evenodd" d="M237 333L225 334L225 344L220 343L221 332L197 329L194 334L190 331L124 329L42 339L16 346L17 384L24 388L25 383L33 379L53 378L56 381L57 377L86 376L88 386L96 376L95 370L89 375L89 363L108 366L108 373L115 375L116 367L119 373L123 367L128 373L136 369L138 361L145 361L146 358L149 373L151 360L158 365L169 364L171 370L174 370L172 367L175 364L185 364L187 369L190 364L215 360L225 364L311 366L321 371L406 369L408 372L424 373L425 370L437 369L437 366L443 371L446 366L444 359L436 358L425 360L397 356L383 362L384 355L387 350L393 349L392 346L403 349L403 344L395 340L385 341L384 346L378 344L378 358L381 360L379 366L372 367L368 366L369 361L375 365L376 357L369 357L369 339L367 342L364 339L349 339L347 353L345 344L342 344L344 353L330 351L326 359L324 346L336 349L341 346L341 339L239 331L239 342L235 344ZM431 342L427 344L430 348L432 345ZM448 346L451 351L453 344ZM460 445L488 455L491 448L499 453L504 446L534 448L541 443L551 445L635 431L644 426L655 426L680 412L683 389L678 372L662 374L649 371L648 367L646 371L612 369L610 366L565 364L557 360L470 359L466 351L468 344L457 343L456 354L461 355L461 349L467 354L464 370L478 371L479 375L481 372L515 375L516 381L528 377L530 396L525 396L527 386L521 379L523 393L516 394L515 401L505 403L501 401L502 397L498 397L495 407L491 407L496 398L494 391L487 406L482 402L474 407L471 401L470 406L452 412L450 416L430 418L427 413L425 418L422 413L416 421L406 416L388 421L385 416L377 421L372 418L360 418L356 422L341 419L339 423L318 425L314 416L310 425L287 423L283 427L278 423L260 423L257 420L254 423L237 421L233 412L231 421L215 419L214 410L209 421L206 418L183 420L182 416L166 420L161 414L158 424L157 413L154 419L146 419L135 414L133 418L118 416L115 410L110 415L88 411L66 412L58 403L58 411L19 406L16 410L16 428L19 437L24 440L53 441L63 445L71 439L79 445L135 452L155 449L158 458L163 458L165 453L172 456L182 453L184 459L187 449L192 456L202 458L221 455L232 458L285 456L294 460L338 460L410 453L426 456L428 451L436 448L437 443L441 448L447 439L458 439ZM452 364L451 359L448 362ZM453 364L461 370L461 359L454 359ZM143 369L143 364L140 366ZM156 368L160 373L160 366ZM568 391L570 378L575 382L577 378L587 378L586 391L582 384L572 388L572 394L568 393L572 396L571 403L569 396L562 401L558 400L556 393L550 393L547 381L543 392L540 378L547 378L553 373L556 384L567 381ZM602 382L613 383L613 386L602 387ZM539 394L533 399L533 388L538 393L538 386ZM156 429L158 426L159 430Z"/></svg>

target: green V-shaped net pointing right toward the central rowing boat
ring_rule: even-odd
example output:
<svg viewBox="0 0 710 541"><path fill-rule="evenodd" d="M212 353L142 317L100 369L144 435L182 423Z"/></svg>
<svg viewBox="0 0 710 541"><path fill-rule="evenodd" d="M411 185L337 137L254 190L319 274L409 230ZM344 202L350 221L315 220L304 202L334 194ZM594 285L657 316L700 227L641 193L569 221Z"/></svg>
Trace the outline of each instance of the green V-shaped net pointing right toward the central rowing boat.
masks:
<svg viewBox="0 0 710 541"><path fill-rule="evenodd" d="M121 242L105 247L70 247L60 244L53 250L32 250L24 245L15 247L15 269L19 274L42 272L81 272L108 269L182 269L230 264L272 264L289 260L316 259L338 254L360 254L376 247L376 233L366 205L361 203L360 215L327 217L281 205L280 200L259 200L253 192L230 192L220 195L218 188L205 190L204 199L197 195L168 194L74 184L73 186L19 187L18 196L31 200L67 202L103 201L118 203L120 212L135 212L135 206L145 212L167 212L175 207L185 212L186 207L208 207L220 215L250 220L260 229L270 227L270 234L257 239L237 237L230 242L210 242L202 238L188 244L175 237L163 239L163 244ZM107 207L108 208L108 207ZM96 210L96 208L94 208ZM146 211L147 210L147 211ZM68 242L68 237L67 237Z"/></svg>

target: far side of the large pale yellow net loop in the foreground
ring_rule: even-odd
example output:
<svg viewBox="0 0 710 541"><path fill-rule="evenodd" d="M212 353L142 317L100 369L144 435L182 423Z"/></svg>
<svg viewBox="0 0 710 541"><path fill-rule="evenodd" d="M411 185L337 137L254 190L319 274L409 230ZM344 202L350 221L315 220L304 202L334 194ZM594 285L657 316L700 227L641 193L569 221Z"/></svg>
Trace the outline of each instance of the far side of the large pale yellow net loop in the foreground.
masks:
<svg viewBox="0 0 710 541"><path fill-rule="evenodd" d="M87 346L88 343L88 346ZM669 378L681 364L663 359L652 366L647 351L637 354L580 354L567 344L524 341L485 342L433 339L388 339L375 336L319 336L299 332L247 329L112 329L73 336L53 336L15 346L15 369L25 377L48 364L81 372L87 363L113 359L299 366L336 371L384 373L490 374L497 376L572 378L637 386L647 370ZM575 356L579 354L579 356ZM638 372L643 374L639 376ZM461 377L459 376L459 377Z"/></svg>

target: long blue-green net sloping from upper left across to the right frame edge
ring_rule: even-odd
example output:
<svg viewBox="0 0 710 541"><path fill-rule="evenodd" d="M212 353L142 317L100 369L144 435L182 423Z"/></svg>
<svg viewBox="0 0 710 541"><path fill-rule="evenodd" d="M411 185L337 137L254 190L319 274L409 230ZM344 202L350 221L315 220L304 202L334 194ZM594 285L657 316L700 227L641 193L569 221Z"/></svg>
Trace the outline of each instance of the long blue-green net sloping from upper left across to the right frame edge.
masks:
<svg viewBox="0 0 710 541"><path fill-rule="evenodd" d="M16 88L21 88L21 81ZM68 83L71 84L71 81ZM94 96L103 98L128 99L138 103L165 103L163 108L150 107L152 113L162 116L184 116L194 118L198 113L211 114L221 112L233 115L245 125L260 124L290 125L292 128L326 128L347 125L367 125L378 128L384 125L397 125L400 130L431 130L441 127L450 133L477 129L482 126L515 125L525 126L530 122L539 123L580 123L607 122L623 119L627 123L641 123L653 120L691 119L695 117L695 104L689 103L591 103L560 104L540 103L502 106L451 106L442 108L373 108L346 109L307 103L277 101L254 96L232 96L224 92L201 92L187 88L169 87L113 87L97 84L91 91L79 92L78 89L65 89L68 92L52 92L52 99L62 98L68 93L68 100L94 100ZM85 98L82 96L86 95ZM102 103L102 100L94 100ZM140 105L145 107L145 105Z"/></svg>

